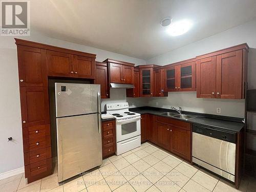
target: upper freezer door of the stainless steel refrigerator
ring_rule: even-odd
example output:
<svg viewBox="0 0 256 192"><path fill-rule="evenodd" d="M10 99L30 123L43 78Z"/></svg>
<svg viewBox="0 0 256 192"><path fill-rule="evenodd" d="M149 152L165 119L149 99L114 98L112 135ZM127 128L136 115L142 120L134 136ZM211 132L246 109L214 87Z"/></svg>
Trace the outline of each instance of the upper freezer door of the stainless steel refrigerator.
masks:
<svg viewBox="0 0 256 192"><path fill-rule="evenodd" d="M55 83L56 117L100 113L100 85Z"/></svg>

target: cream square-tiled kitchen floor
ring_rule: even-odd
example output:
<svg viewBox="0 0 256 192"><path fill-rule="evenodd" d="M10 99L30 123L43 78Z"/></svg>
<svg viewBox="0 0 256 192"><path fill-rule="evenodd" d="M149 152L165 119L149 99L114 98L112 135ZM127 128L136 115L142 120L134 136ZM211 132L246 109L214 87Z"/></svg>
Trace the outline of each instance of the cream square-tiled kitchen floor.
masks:
<svg viewBox="0 0 256 192"><path fill-rule="evenodd" d="M55 166L53 175L30 184L24 174L0 180L0 191L253 192L256 191L256 180L246 177L236 190L229 182L191 166L151 143L144 143L131 152L104 159L99 168L72 181L59 184Z"/></svg>

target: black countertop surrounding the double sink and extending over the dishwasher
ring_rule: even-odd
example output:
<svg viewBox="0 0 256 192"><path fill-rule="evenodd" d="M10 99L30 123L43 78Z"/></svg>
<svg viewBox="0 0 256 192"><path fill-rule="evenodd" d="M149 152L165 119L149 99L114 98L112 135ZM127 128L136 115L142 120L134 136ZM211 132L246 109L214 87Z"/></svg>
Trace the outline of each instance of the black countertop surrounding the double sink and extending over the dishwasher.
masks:
<svg viewBox="0 0 256 192"><path fill-rule="evenodd" d="M166 115L161 115L163 112L175 112L174 110L169 109L163 109L163 108L154 108L151 106L142 106L140 108L130 108L129 111L143 114L152 114L152 115L158 115L162 117L167 118L174 118L174 117L168 117ZM202 126L208 126L213 129L218 129L222 131L228 131L232 133L238 133L240 132L243 127L245 126L244 123L242 123L242 118L235 118L235 117L227 117L227 116L220 116L220 115L210 115L210 114L202 114L202 113L194 113L194 112L182 112L182 114L186 115L194 115L197 116L196 118L188 119L188 120L182 120L185 122L190 122L192 124L202 125Z"/></svg>

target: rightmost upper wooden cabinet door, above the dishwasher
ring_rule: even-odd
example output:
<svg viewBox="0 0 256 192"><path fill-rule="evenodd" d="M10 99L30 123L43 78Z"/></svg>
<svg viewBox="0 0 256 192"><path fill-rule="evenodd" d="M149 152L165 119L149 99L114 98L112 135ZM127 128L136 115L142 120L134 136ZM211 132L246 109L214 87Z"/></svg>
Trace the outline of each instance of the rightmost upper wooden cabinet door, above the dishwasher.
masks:
<svg viewBox="0 0 256 192"><path fill-rule="evenodd" d="M217 56L216 98L242 99L243 52L242 50Z"/></svg>

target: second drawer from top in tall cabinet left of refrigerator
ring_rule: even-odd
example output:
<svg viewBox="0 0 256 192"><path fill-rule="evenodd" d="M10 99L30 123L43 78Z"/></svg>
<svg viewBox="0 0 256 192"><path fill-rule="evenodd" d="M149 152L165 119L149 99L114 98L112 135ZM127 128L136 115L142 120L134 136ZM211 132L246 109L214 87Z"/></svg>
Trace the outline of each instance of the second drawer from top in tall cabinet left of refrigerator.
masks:
<svg viewBox="0 0 256 192"><path fill-rule="evenodd" d="M51 146L51 136L38 137L35 139L28 139L23 141L24 153L39 150Z"/></svg>

